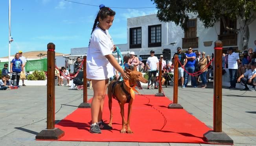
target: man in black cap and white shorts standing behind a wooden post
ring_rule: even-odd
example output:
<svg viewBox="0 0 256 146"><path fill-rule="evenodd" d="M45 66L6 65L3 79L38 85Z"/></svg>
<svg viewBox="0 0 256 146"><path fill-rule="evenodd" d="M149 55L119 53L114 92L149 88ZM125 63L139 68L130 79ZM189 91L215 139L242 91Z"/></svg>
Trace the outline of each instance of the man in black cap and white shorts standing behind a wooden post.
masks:
<svg viewBox="0 0 256 146"><path fill-rule="evenodd" d="M187 64L188 60L187 60L186 54L181 52L181 48L180 47L177 47L177 53L175 53L173 55L172 62L174 62L175 55L178 55L179 61L181 63L181 65L180 65L180 63L178 63L179 64L178 65L178 67L179 67L179 79L181 81L181 88L185 88L185 86L184 86L184 78L183 78L183 76L184 76L184 69L183 68Z"/></svg>

